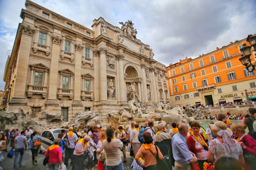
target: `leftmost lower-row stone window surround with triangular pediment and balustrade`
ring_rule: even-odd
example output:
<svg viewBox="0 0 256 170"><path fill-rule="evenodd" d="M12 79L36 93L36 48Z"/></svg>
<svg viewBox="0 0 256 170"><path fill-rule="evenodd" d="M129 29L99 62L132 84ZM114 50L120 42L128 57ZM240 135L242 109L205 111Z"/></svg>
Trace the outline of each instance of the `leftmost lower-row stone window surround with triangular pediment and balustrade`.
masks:
<svg viewBox="0 0 256 170"><path fill-rule="evenodd" d="M41 94L42 98L47 96L47 84L48 84L48 73L49 68L42 63L31 64L30 66L30 78L27 90L27 97L32 97L33 94ZM43 73L42 86L34 86L35 72Z"/></svg>

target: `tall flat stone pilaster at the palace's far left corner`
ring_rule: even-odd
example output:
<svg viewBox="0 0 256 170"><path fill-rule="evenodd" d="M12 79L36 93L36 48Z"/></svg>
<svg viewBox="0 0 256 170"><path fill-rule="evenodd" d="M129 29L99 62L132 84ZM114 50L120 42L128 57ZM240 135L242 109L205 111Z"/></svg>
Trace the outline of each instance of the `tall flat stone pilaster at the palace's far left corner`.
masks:
<svg viewBox="0 0 256 170"><path fill-rule="evenodd" d="M18 30L17 34L20 34L20 45L19 45L19 55L16 66L16 79L15 86L13 91L13 96L8 103L10 105L9 110L15 110L19 108L19 105L25 106L27 104L25 98L25 90L27 89L27 73L28 73L28 63L29 63L29 55L31 49L31 41L35 28L31 25L20 25L20 30ZM33 73L32 73L33 74ZM18 107L16 107L18 106Z"/></svg>

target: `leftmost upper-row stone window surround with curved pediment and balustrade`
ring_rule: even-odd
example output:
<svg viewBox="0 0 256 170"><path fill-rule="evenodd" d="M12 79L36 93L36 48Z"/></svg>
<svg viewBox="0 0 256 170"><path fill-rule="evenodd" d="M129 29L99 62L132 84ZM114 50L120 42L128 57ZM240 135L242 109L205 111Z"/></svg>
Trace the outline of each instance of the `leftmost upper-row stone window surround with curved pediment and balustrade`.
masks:
<svg viewBox="0 0 256 170"><path fill-rule="evenodd" d="M46 34L46 45L40 44L39 43L39 34L40 32ZM49 30L47 27L42 26L42 25L37 25L36 26L36 34L34 34L35 39L33 43L33 53L37 53L37 51L43 51L45 52L46 56L49 56L50 54L50 42L51 42L51 30Z"/></svg>

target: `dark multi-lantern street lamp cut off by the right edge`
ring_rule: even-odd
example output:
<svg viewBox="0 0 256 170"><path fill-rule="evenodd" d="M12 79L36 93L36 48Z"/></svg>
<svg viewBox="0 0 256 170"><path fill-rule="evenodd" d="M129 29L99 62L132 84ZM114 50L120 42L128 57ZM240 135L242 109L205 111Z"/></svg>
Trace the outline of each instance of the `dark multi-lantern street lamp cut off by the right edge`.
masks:
<svg viewBox="0 0 256 170"><path fill-rule="evenodd" d="M248 72L253 72L253 70L256 70L255 69L256 61L254 64L252 64L250 56L251 56L251 47L253 47L254 51L256 52L256 35L248 35L246 41L248 41L251 46L247 46L246 44L243 44L243 47L240 49L240 51L242 52L242 55L239 61L242 63L242 65L246 67ZM254 55L256 56L256 53Z"/></svg>

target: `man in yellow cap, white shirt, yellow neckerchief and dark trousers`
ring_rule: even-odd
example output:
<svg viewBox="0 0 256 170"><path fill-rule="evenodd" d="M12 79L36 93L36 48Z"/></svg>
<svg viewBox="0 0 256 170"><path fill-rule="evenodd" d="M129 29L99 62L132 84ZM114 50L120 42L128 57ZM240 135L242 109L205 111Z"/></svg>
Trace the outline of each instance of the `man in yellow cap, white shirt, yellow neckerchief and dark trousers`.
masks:
<svg viewBox="0 0 256 170"><path fill-rule="evenodd" d="M71 165L73 164L73 152L75 150L75 145L77 143L77 135L73 133L73 127L69 127L69 132L66 133L68 136L69 145L65 149L65 161L64 164L68 167L68 160L71 159ZM65 138L65 136L64 136Z"/></svg>

